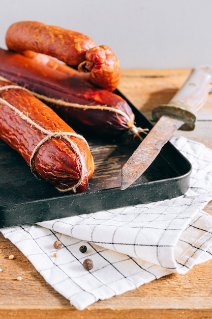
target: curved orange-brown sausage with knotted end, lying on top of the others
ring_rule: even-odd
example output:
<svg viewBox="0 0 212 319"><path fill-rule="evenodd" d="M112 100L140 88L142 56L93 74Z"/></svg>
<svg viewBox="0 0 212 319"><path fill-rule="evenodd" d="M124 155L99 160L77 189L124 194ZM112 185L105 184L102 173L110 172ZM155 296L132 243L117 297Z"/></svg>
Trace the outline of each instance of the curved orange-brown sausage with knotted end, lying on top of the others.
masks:
<svg viewBox="0 0 212 319"><path fill-rule="evenodd" d="M32 50L78 66L79 71L89 72L90 82L109 91L119 83L119 60L112 49L97 46L82 33L37 21L20 21L9 27L6 44L16 52Z"/></svg>

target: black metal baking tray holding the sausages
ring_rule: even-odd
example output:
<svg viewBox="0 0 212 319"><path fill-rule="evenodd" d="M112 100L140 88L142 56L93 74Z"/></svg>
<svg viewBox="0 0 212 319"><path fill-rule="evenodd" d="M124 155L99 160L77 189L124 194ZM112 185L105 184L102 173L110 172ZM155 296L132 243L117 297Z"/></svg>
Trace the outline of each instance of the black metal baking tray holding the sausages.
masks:
<svg viewBox="0 0 212 319"><path fill-rule="evenodd" d="M152 123L127 101L137 126L151 129ZM84 193L69 195L38 180L23 158L0 140L0 228L171 199L189 189L191 164L170 142L146 172L121 191L122 166L139 141L127 135L116 141L87 140L96 170Z"/></svg>

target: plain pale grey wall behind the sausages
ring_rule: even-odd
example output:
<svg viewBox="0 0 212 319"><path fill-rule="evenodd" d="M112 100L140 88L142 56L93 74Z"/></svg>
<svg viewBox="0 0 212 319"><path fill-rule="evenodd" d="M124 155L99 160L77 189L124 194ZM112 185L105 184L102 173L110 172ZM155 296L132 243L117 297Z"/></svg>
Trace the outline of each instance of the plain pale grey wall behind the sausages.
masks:
<svg viewBox="0 0 212 319"><path fill-rule="evenodd" d="M121 68L212 64L212 0L1 0L0 46L10 24L37 20L110 46Z"/></svg>

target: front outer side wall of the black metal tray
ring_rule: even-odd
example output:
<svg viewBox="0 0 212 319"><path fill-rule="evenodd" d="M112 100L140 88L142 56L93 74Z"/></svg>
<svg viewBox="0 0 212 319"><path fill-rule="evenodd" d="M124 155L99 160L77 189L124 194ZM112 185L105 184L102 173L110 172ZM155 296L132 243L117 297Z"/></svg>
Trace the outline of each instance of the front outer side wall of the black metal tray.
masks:
<svg viewBox="0 0 212 319"><path fill-rule="evenodd" d="M110 210L110 209L115 209L115 208L122 208L122 207L127 207L127 206L134 206L137 204L146 204L149 202L156 202L156 201L162 201L162 200L166 200L166 199L172 199L172 198L176 198L180 195L183 195L188 189L189 189L189 176L191 174L191 170L190 169L186 174L181 175L180 178L178 177L171 177L170 179L165 179L169 181L169 185L170 182L173 182L174 180L178 181L178 185L180 185L180 183L183 182L183 180L187 180L187 184L185 185L183 183L183 188L181 188L181 192L176 192L175 194L172 194L172 196L169 196L168 198L164 198L164 195L162 195L162 197L160 198L160 196L157 197L157 200L146 200L145 201L140 201L138 199L138 193L139 196L140 194L140 187L142 187L142 190L145 189L145 186L147 186L149 188L149 185L152 186L152 191L156 190L156 188L160 189L160 185L164 183L163 179L158 180L157 182L155 181L150 181L150 182L144 182L144 183L139 183L139 184L133 184L130 185L130 187L128 188L128 195L132 195L134 196L134 198L132 197L133 203L130 202L130 199L128 199L128 204L123 204L123 205L110 205L109 207L104 207L103 209L95 209L95 208L88 208L87 210L84 209L83 207L83 211L79 212L79 211L73 211L73 210L69 210L69 212L67 213L67 210L64 209L64 206L61 207L60 203L63 203L68 201L70 206L73 207L73 202L76 201L77 199L80 198L82 199L82 197L84 197L84 201L86 201L87 203L87 199L91 200L91 199L95 199L95 197L99 197L101 196L102 198L108 198L107 195L110 195L110 198L112 195L115 194L115 196L120 195L120 194L125 194L125 191L121 191L120 188L113 188L113 189L104 189L104 190L98 190L98 191L94 191L94 192L89 192L89 193L78 193L78 194L72 194L72 195L65 195L63 197L52 197L52 198L48 198L47 200L43 200L43 199L39 199L39 200L35 200L35 201L30 201L30 202L25 202L25 203L18 203L18 204L13 204L13 205L4 205L2 207L0 207L0 214L1 214L1 218L0 218L0 228L4 228L4 227L11 227L11 226L20 226L23 224L34 224L34 223L38 223L38 222L42 222L42 221L47 221L47 220L54 220L54 219L59 219L59 218L66 218L66 217L72 217L72 216L76 216L76 215L82 215L82 214L90 214L93 212L97 212L97 211L101 211L101 210ZM149 189L148 189L149 192ZM105 196L106 195L106 196ZM129 197L129 196L128 196ZM126 197L125 197L126 198ZM137 199L137 200L136 200ZM81 201L78 201L78 203L75 203L75 207L78 206L78 204L82 203ZM119 202L118 202L119 203ZM57 204L57 212L55 212L55 204ZM10 219L8 217L8 214L11 214L12 212L12 216L15 217L17 215L17 212L19 212L20 214L20 207L24 206L24 209L22 208L22 212L26 212L26 215L22 216L20 218L19 215L19 222L10 222ZM41 206L41 207L40 207ZM45 206L45 207L43 207ZM27 216L29 215L29 211L28 208L33 208L34 209L34 214L33 217L31 215L29 220L27 218ZM53 207L53 212L52 212L52 207ZM74 207L74 208L75 208ZM80 206L79 206L80 207ZM87 206L89 207L89 206ZM94 206L93 206L94 207ZM9 209L8 209L9 208ZM38 209L41 208L41 210L39 211L38 214ZM42 212L42 208L45 208L45 212L43 215ZM76 209L76 208L75 208ZM31 214L32 214L31 210ZM52 216L52 214L54 214L54 217L49 218L49 215ZM6 215L6 220L5 222L2 220L3 216ZM40 215L42 215L42 218L39 217ZM11 217L12 217L11 216ZM3 224L1 224L1 221L3 222Z"/></svg>

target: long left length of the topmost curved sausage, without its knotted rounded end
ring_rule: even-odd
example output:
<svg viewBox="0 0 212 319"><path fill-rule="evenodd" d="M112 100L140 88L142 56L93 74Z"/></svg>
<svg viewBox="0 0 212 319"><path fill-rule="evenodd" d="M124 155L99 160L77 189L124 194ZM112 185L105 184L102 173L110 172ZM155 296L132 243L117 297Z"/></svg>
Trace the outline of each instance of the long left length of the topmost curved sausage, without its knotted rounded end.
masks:
<svg viewBox="0 0 212 319"><path fill-rule="evenodd" d="M7 47L16 52L32 50L78 65L88 49L97 44L88 36L37 21L13 23L6 33Z"/></svg>

